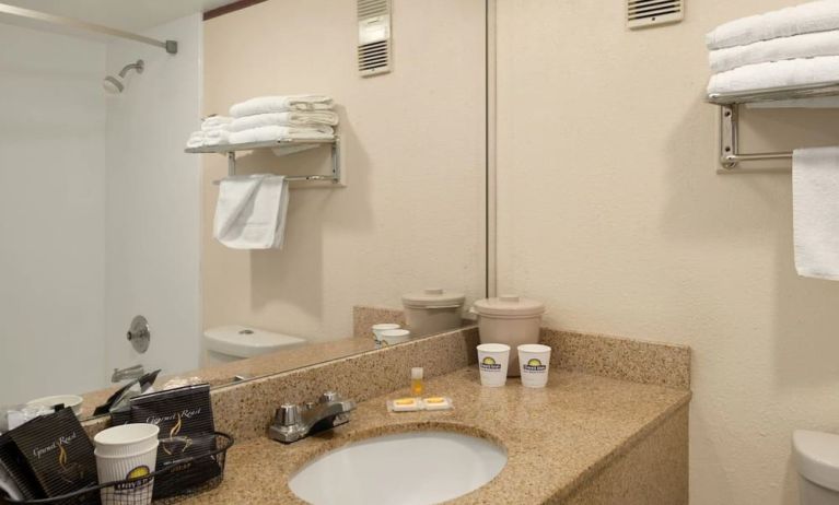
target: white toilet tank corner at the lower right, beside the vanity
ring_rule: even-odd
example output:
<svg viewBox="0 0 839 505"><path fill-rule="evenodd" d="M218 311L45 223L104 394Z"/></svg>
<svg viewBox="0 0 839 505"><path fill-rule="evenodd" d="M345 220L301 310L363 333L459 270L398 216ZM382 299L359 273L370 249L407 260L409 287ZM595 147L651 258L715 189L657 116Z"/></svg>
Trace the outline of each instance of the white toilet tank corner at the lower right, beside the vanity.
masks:
<svg viewBox="0 0 839 505"><path fill-rule="evenodd" d="M792 454L801 505L839 505L839 435L796 430Z"/></svg>

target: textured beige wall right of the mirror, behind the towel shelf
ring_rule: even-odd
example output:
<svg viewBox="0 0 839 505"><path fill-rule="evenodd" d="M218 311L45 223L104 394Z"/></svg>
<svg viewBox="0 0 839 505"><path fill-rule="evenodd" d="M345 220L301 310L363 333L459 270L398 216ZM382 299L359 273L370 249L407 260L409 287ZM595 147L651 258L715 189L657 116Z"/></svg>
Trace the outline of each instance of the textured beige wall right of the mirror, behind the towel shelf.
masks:
<svg viewBox="0 0 839 505"><path fill-rule="evenodd" d="M702 35L794 3L688 1L628 32L621 2L498 2L500 290L694 349L694 505L796 503L792 430L839 431L839 284L795 274L788 172L715 173L702 102ZM753 113L743 145L837 144L837 120Z"/></svg>

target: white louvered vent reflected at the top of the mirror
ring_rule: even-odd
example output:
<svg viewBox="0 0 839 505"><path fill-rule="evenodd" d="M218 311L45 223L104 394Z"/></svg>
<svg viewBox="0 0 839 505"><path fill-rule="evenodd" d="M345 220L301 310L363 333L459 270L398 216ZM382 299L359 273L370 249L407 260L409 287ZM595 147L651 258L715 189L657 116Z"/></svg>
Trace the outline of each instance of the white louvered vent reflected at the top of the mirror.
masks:
<svg viewBox="0 0 839 505"><path fill-rule="evenodd" d="M358 0L359 72L362 77L391 71L391 0Z"/></svg>

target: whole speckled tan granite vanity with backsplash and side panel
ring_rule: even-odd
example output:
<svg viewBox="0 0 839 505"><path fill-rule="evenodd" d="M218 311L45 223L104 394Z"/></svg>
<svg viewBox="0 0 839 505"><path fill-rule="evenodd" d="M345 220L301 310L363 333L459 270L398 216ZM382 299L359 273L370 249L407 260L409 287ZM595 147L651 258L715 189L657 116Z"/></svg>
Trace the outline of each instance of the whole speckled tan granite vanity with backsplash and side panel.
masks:
<svg viewBox="0 0 839 505"><path fill-rule="evenodd" d="M689 350L550 330L541 341L558 356L545 389L512 379L481 387L475 328L217 389L217 425L237 444L222 484L185 503L304 503L289 480L317 456L384 434L431 431L506 451L494 479L454 503L686 504ZM409 395L411 366L426 368L427 391L451 397L454 410L387 411L387 399ZM280 403L330 389L358 401L349 423L292 444L268 438Z"/></svg>

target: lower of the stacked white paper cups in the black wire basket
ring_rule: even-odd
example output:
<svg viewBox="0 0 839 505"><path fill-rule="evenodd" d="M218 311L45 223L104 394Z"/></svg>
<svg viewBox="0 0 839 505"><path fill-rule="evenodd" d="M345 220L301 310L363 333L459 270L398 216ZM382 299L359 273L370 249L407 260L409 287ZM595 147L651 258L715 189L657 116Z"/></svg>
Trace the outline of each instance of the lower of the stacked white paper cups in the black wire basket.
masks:
<svg viewBox="0 0 839 505"><path fill-rule="evenodd" d="M149 505L154 491L154 478L147 477L154 471L158 462L158 444L144 451L124 456L96 455L96 472L100 483L131 479L130 482L104 488L100 491L102 505Z"/></svg>

